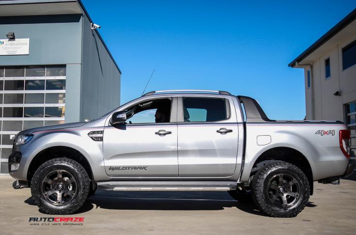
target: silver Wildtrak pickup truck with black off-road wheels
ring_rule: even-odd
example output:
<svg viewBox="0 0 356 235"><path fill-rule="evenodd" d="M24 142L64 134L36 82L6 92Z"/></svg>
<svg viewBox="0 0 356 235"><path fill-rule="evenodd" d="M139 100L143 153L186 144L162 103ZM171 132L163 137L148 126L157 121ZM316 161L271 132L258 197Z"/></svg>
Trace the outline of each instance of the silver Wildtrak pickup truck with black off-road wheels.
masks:
<svg viewBox="0 0 356 235"><path fill-rule="evenodd" d="M313 182L354 170L341 122L274 121L224 91L142 95L103 117L21 131L9 172L46 214L71 214L97 188L228 191L273 217L294 217Z"/></svg>

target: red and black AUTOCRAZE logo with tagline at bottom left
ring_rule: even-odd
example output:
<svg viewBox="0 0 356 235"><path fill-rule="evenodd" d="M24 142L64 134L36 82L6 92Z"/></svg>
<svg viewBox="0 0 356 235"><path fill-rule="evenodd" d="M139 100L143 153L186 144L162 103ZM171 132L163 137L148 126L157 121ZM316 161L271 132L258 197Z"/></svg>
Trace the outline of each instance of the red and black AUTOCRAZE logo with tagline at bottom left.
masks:
<svg viewBox="0 0 356 235"><path fill-rule="evenodd" d="M83 225L84 217L30 217L30 225Z"/></svg>

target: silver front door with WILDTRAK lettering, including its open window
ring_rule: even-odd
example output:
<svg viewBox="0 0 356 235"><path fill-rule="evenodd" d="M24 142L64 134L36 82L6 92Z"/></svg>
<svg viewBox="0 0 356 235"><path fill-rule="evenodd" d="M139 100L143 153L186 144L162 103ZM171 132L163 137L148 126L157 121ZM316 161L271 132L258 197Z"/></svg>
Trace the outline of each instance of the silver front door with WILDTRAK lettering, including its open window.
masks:
<svg viewBox="0 0 356 235"><path fill-rule="evenodd" d="M178 176L174 108L172 98L140 101L124 110L126 124L105 127L103 151L109 176Z"/></svg>

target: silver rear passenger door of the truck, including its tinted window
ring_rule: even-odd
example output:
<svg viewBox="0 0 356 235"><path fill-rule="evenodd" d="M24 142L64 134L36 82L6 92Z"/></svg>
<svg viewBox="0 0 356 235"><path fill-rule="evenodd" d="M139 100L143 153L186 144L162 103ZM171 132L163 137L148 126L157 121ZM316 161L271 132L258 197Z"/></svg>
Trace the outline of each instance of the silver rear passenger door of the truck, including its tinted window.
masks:
<svg viewBox="0 0 356 235"><path fill-rule="evenodd" d="M238 147L238 125L232 99L180 97L178 114L179 176L231 176L236 167Z"/></svg>

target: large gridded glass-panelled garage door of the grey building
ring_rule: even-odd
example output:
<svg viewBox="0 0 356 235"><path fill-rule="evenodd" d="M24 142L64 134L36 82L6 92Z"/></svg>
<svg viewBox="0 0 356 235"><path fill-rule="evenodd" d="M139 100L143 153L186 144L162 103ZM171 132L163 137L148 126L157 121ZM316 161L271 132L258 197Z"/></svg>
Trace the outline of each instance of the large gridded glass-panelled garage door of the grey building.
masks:
<svg viewBox="0 0 356 235"><path fill-rule="evenodd" d="M64 123L65 76L65 65L0 66L0 174L19 131Z"/></svg>

